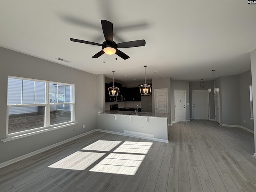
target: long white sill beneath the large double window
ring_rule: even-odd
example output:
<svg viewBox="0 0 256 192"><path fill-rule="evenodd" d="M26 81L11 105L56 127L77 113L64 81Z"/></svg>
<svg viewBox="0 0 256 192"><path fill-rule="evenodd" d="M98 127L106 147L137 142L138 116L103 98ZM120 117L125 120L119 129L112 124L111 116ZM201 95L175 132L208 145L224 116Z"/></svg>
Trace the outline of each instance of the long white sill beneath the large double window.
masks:
<svg viewBox="0 0 256 192"><path fill-rule="evenodd" d="M8 142L11 140L15 140L15 139L19 139L19 138L24 138L24 137L28 137L31 135L36 135L36 134L40 134L43 132L48 132L48 131L52 131L52 130L56 130L56 129L60 129L60 128L64 128L64 127L68 127L68 126L72 126L72 125L76 125L77 122L74 123L70 123L70 124L65 124L65 125L61 125L61 126L56 126L56 127L51 127L51 128L45 128L42 130L38 130L38 131L34 131L34 132L30 132L30 133L26 133L26 134L21 134L21 135L15 135L15 136L8 136L4 139L1 139L2 142Z"/></svg>

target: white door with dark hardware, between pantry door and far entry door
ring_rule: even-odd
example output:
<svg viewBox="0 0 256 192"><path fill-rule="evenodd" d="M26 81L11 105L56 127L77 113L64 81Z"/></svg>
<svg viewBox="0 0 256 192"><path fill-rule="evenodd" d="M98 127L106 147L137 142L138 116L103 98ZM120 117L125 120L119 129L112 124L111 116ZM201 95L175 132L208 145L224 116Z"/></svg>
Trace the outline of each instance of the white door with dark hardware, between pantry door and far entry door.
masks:
<svg viewBox="0 0 256 192"><path fill-rule="evenodd" d="M174 90L175 122L186 121L186 90Z"/></svg>

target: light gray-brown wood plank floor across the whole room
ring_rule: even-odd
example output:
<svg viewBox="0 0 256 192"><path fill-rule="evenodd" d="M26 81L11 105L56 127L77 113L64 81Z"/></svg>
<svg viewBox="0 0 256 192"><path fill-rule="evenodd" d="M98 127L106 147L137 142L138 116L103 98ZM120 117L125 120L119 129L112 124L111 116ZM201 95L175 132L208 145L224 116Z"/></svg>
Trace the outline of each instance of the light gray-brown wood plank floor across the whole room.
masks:
<svg viewBox="0 0 256 192"><path fill-rule="evenodd" d="M252 133L193 120L169 140L94 132L1 168L0 191L256 192Z"/></svg>

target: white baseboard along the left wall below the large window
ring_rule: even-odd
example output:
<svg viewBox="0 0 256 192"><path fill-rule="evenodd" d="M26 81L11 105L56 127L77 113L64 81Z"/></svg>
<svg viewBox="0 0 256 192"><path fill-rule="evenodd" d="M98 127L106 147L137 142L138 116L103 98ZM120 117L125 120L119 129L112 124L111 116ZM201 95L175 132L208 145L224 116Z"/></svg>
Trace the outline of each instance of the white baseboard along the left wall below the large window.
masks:
<svg viewBox="0 0 256 192"><path fill-rule="evenodd" d="M22 156L20 156L20 157L14 158L14 159L9 160L9 161L3 162L3 163L0 164L0 168L5 167L5 166L8 166L8 165L13 164L13 163L16 163L16 162L18 162L18 161L20 161L20 160L26 159L26 158L31 157L31 156L33 156L33 155L36 155L36 154L38 154L38 153L42 153L42 152L44 152L44 151L46 151L46 150L49 150L49 149L54 148L54 147L57 147L57 146L59 146L59 145L62 145L62 144L67 143L67 142L70 142L70 141L72 141L72 140L75 140L75 139L77 139L77 138L80 138L80 137L82 137L82 136L88 135L88 134L93 133L93 132L95 132L95 130L88 131L88 132L86 132L86 133L83 133L83 134L74 136L74 137L72 137L72 138L66 139L66 140L61 141L61 142L58 142L58 143L56 143L56 144L47 146L47 147L45 147L45 148L42 148L42 149L33 151L33 152L31 152L31 153L22 155Z"/></svg>

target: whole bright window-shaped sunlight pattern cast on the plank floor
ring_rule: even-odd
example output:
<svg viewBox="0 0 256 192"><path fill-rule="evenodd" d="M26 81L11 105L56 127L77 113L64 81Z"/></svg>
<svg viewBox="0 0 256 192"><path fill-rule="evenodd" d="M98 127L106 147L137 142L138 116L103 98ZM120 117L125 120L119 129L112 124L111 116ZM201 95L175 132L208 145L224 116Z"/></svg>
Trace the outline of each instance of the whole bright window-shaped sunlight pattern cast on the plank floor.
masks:
<svg viewBox="0 0 256 192"><path fill-rule="evenodd" d="M48 166L49 168L85 170L102 156L103 160L90 169L92 172L134 175L152 146L152 142L123 142L98 140ZM118 147L117 147L118 146ZM117 147L116 149L114 149ZM87 150L87 151L86 151ZM97 152L93 152L93 151Z"/></svg>

